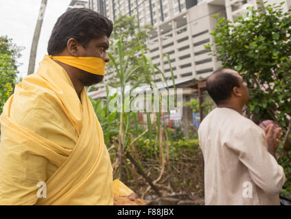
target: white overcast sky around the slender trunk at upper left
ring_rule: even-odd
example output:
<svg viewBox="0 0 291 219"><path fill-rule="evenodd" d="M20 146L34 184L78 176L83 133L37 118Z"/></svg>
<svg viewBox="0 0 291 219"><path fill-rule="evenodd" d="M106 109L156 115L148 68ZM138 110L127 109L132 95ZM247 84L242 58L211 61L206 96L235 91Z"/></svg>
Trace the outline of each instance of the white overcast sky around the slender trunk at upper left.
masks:
<svg viewBox="0 0 291 219"><path fill-rule="evenodd" d="M21 51L21 58L18 60L23 63L19 67L22 77L27 75L30 49L40 2L40 0L0 0L0 36L7 35L8 38L13 39L15 44L25 47ZM62 13L66 12L70 2L71 0L47 1L43 27L38 41L36 69L38 68L38 62L47 54L47 42L56 20Z"/></svg>

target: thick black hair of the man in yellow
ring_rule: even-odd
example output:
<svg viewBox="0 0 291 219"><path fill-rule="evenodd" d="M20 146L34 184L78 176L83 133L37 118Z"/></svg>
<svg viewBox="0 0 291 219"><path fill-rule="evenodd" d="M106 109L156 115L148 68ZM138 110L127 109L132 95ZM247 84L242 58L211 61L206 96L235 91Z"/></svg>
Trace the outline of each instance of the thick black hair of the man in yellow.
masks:
<svg viewBox="0 0 291 219"><path fill-rule="evenodd" d="M112 31L112 21L102 14L88 8L73 8L58 18L49 38L47 53L56 55L62 52L70 38L75 38L86 48L90 40L104 35L109 38Z"/></svg>

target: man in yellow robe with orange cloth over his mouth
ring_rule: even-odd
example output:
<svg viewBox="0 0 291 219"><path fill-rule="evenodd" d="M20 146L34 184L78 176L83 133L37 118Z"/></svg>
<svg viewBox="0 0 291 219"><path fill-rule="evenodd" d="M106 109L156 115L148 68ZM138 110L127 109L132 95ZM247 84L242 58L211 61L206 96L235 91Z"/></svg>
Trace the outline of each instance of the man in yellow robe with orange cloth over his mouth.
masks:
<svg viewBox="0 0 291 219"><path fill-rule="evenodd" d="M62 14L36 73L1 114L0 205L113 205L113 169L84 86L103 79L113 23Z"/></svg>

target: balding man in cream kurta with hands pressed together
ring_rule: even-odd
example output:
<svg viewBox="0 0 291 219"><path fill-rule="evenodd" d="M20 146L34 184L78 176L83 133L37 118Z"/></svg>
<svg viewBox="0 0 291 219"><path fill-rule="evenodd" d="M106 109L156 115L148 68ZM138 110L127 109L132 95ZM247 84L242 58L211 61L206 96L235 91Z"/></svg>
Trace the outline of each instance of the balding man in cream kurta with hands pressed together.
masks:
<svg viewBox="0 0 291 219"><path fill-rule="evenodd" d="M285 183L275 153L281 128L265 131L242 116L250 96L235 70L223 68L207 79L207 91L217 107L198 129L205 162L205 205L280 205Z"/></svg>

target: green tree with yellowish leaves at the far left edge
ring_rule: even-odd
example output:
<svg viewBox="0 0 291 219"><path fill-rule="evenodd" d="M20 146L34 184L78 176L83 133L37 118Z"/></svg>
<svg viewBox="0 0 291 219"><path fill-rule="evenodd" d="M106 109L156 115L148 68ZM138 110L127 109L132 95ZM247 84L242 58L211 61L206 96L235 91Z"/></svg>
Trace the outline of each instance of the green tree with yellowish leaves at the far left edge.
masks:
<svg viewBox="0 0 291 219"><path fill-rule="evenodd" d="M4 103L12 94L19 71L16 59L20 57L20 47L7 36L0 37L0 114Z"/></svg>

